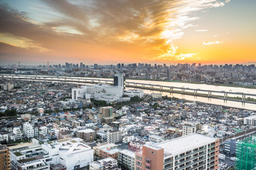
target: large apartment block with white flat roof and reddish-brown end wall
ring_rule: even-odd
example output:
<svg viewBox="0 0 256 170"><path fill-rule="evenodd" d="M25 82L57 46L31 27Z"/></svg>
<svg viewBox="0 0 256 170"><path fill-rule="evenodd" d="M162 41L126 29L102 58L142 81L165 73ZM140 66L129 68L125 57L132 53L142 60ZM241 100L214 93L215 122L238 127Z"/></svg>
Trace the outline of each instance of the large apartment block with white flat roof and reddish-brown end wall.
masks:
<svg viewBox="0 0 256 170"><path fill-rule="evenodd" d="M200 134L178 137L136 152L135 169L218 169L220 141Z"/></svg>

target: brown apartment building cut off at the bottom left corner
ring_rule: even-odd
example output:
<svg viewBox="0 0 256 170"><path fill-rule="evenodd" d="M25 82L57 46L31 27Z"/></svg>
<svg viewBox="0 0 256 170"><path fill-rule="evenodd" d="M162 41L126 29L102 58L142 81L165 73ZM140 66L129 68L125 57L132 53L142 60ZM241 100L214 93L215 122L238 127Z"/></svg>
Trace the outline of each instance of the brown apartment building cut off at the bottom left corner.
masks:
<svg viewBox="0 0 256 170"><path fill-rule="evenodd" d="M11 157L9 148L6 145L0 145L0 169L10 170L11 169Z"/></svg>

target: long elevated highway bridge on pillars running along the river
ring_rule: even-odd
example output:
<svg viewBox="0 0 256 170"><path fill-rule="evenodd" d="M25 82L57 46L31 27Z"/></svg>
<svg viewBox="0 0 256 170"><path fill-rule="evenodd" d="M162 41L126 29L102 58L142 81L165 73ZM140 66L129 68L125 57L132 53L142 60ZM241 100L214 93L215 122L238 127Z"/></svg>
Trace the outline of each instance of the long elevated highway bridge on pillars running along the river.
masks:
<svg viewBox="0 0 256 170"><path fill-rule="evenodd" d="M21 75L21 74L0 74L2 79L20 79L20 80L33 80L33 81L53 81L53 82L68 82L75 84L113 84L112 79L102 78L89 78L89 77L57 77L45 75ZM248 101L247 97L256 98L256 94L233 92L233 91L217 91L207 89L193 89L178 86L165 86L161 84L149 84L150 81L145 83L133 82L127 80L125 86L136 89L146 89L150 91L162 91L170 94L186 94L191 96L201 96L206 98L218 98L224 101L240 101L242 103L256 103L255 101Z"/></svg>

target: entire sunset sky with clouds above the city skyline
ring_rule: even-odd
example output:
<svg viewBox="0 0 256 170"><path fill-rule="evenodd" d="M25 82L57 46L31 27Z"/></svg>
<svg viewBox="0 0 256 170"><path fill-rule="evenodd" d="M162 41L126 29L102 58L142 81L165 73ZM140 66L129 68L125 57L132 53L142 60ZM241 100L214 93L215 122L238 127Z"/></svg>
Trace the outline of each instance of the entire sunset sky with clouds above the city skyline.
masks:
<svg viewBox="0 0 256 170"><path fill-rule="evenodd" d="M252 63L255 8L255 0L0 0L0 62Z"/></svg>

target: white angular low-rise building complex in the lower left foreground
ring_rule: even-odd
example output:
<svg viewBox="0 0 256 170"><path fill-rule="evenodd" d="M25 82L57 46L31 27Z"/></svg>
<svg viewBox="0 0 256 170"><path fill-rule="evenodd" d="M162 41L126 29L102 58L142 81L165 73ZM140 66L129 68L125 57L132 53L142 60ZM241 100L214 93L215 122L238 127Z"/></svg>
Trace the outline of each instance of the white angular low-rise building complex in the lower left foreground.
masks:
<svg viewBox="0 0 256 170"><path fill-rule="evenodd" d="M93 150L80 138L11 150L16 169L50 170L50 165L62 164L67 170L85 167L93 161Z"/></svg>

